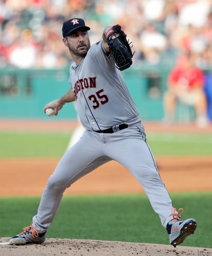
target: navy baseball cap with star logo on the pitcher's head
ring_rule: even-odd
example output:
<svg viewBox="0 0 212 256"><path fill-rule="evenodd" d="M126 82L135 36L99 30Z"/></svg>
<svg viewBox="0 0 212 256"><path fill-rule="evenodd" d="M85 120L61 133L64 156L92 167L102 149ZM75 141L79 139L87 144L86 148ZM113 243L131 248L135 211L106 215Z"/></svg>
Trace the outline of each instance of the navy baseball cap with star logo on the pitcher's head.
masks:
<svg viewBox="0 0 212 256"><path fill-rule="evenodd" d="M86 30L90 30L90 27L85 26L85 22L80 18L73 18L63 23L62 33L63 37L66 37L68 34L72 33L75 29L84 27Z"/></svg>

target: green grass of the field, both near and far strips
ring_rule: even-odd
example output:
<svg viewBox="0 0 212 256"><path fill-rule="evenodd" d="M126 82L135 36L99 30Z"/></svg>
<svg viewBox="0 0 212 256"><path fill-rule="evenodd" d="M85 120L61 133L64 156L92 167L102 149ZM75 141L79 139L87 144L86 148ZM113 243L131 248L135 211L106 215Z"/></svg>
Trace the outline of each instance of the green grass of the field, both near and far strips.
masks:
<svg viewBox="0 0 212 256"><path fill-rule="evenodd" d="M1 158L62 156L69 137L68 133L0 132L0 163ZM148 141L154 155L212 154L209 134L149 133ZM212 247L211 195L171 194L174 207L184 208L182 218L193 217L198 222L195 235L186 239L184 246ZM38 197L0 197L0 237L13 236L28 226L39 201ZM169 244L144 194L65 196L47 236Z"/></svg>

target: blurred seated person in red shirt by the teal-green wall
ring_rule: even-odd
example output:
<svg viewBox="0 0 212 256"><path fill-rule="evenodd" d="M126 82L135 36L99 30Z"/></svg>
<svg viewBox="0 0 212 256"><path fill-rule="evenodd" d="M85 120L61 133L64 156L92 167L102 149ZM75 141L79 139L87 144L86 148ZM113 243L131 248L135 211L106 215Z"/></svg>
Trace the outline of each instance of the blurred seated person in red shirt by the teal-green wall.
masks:
<svg viewBox="0 0 212 256"><path fill-rule="evenodd" d="M174 121L176 103L183 102L196 110L196 123L199 127L207 125L207 100L204 92L204 73L196 67L195 55L188 53L179 56L176 66L167 79L164 94L165 120Z"/></svg>

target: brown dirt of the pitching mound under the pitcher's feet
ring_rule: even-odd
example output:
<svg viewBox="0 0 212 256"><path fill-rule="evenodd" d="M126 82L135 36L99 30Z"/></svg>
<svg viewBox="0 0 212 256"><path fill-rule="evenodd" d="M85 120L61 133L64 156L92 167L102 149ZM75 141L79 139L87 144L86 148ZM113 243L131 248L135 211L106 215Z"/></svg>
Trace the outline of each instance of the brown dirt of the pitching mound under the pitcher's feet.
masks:
<svg viewBox="0 0 212 256"><path fill-rule="evenodd" d="M7 237L0 238L1 242L8 242ZM171 245L110 242L96 240L59 239L48 238L41 245L0 245L0 255L4 256L52 256L52 255L76 255L76 256L211 256L212 249Z"/></svg>

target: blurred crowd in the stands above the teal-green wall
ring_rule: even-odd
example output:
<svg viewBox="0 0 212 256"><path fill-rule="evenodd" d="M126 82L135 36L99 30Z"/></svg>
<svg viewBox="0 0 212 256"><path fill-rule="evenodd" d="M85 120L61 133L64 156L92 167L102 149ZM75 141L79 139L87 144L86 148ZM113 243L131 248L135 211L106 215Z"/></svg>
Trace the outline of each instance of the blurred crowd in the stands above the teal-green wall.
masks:
<svg viewBox="0 0 212 256"><path fill-rule="evenodd" d="M69 66L61 28L78 17L91 27L91 43L120 24L133 42L133 65L173 65L189 52L200 69L212 66L211 0L0 0L0 67Z"/></svg>

